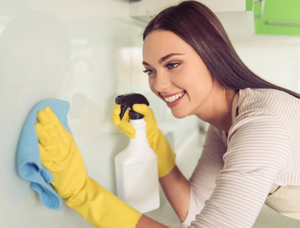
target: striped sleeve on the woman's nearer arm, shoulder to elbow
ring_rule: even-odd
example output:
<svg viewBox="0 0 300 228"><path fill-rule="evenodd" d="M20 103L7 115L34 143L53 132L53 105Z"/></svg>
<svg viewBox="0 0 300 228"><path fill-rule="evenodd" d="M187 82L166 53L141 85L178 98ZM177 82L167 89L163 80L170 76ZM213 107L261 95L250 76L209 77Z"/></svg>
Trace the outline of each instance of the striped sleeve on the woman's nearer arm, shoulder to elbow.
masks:
<svg viewBox="0 0 300 228"><path fill-rule="evenodd" d="M228 137L224 167L189 228L252 227L291 154L286 128L276 116L262 111L240 117Z"/></svg>

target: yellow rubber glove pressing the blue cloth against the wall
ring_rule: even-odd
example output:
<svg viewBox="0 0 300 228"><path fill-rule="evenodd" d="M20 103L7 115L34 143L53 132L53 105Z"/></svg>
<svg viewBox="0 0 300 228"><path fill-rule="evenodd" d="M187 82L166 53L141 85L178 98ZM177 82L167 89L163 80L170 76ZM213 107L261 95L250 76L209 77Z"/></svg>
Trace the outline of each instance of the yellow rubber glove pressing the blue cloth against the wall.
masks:
<svg viewBox="0 0 300 228"><path fill-rule="evenodd" d="M87 176L73 137L55 113L46 107L38 111L37 119L40 159L52 173L51 184L59 196L95 227L134 228L141 213Z"/></svg>

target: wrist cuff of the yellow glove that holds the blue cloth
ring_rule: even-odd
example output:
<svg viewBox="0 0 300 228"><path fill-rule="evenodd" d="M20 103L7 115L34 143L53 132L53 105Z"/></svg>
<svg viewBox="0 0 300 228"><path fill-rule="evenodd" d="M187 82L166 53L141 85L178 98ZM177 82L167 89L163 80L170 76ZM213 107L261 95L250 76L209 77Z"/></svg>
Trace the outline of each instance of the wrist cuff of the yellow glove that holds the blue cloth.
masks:
<svg viewBox="0 0 300 228"><path fill-rule="evenodd" d="M101 228L134 228L142 215L90 177L66 203L86 221Z"/></svg>

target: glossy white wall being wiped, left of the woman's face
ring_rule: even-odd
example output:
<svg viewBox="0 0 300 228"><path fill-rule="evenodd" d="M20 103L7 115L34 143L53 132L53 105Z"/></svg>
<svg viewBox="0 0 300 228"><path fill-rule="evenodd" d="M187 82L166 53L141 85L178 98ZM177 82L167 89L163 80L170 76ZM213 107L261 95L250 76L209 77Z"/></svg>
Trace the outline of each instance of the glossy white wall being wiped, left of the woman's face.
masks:
<svg viewBox="0 0 300 228"><path fill-rule="evenodd" d="M91 227L66 206L44 208L15 171L19 132L37 101L70 102L88 174L113 193L113 158L128 142L111 123L115 96L143 93L163 131L173 129L174 147L195 129L195 118L174 119L150 92L143 27L127 0L0 0L0 227Z"/></svg>

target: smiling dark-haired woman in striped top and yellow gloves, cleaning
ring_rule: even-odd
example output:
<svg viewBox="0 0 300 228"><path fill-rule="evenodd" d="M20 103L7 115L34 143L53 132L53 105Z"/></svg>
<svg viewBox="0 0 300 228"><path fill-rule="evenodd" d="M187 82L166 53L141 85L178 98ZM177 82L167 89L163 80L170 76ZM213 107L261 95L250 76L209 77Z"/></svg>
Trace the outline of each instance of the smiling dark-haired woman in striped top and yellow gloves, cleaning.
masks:
<svg viewBox="0 0 300 228"><path fill-rule="evenodd" d="M143 39L151 90L175 117L197 115L210 124L201 158L187 180L152 110L133 106L144 114L160 184L182 223L194 228L252 227L264 202L300 219L300 95L251 72L217 17L197 1L160 12ZM134 137L128 115L120 121L119 111L116 105L113 123ZM96 227L165 227L87 176L71 135L49 108L38 112L38 120L41 160L70 207Z"/></svg>

